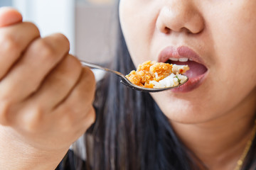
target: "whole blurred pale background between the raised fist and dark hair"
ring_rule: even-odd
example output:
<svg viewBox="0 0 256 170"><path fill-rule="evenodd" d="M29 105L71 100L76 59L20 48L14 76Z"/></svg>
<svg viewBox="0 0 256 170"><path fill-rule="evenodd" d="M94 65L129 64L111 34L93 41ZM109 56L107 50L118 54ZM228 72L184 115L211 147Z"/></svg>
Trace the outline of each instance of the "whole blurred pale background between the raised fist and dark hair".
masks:
<svg viewBox="0 0 256 170"><path fill-rule="evenodd" d="M115 46L114 0L0 0L14 6L24 21L36 23L42 37L63 33L70 52L88 62L107 62Z"/></svg>

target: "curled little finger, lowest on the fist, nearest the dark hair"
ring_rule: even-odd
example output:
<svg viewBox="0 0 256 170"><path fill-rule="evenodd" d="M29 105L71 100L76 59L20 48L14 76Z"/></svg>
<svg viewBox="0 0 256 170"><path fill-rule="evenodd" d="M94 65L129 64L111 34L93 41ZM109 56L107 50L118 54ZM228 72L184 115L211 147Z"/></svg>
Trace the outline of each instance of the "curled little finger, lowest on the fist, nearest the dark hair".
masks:
<svg viewBox="0 0 256 170"><path fill-rule="evenodd" d="M88 68L83 68L80 81L70 95L55 108L55 116L65 128L71 128L80 123L87 124L87 128L95 121L92 102L95 96L95 77ZM92 114L93 113L93 114ZM60 119L61 118L61 119ZM85 123L86 122L86 123Z"/></svg>

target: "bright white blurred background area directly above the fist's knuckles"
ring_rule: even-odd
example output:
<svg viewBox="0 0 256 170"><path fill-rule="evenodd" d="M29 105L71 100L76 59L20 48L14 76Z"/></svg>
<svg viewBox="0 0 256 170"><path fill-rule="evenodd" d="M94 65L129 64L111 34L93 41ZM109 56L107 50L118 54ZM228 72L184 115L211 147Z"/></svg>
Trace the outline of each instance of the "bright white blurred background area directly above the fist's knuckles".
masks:
<svg viewBox="0 0 256 170"><path fill-rule="evenodd" d="M75 53L75 0L13 0L24 21L36 23L42 36L63 33Z"/></svg>

